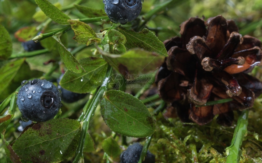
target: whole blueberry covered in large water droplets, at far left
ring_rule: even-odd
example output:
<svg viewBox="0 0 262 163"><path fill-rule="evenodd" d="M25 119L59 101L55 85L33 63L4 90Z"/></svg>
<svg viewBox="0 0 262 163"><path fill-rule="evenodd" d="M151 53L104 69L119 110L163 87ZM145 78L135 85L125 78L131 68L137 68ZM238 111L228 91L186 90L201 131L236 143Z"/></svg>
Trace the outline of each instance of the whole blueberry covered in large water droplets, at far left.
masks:
<svg viewBox="0 0 262 163"><path fill-rule="evenodd" d="M61 104L61 91L47 80L22 81L16 103L23 120L43 122L55 117Z"/></svg>

